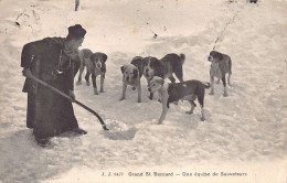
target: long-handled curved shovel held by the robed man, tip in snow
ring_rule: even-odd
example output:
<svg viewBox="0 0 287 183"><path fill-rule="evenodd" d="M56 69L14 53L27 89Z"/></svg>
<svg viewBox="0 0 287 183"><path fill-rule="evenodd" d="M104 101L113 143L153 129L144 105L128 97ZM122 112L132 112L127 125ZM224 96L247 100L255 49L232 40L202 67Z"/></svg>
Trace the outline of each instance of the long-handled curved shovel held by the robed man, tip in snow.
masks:
<svg viewBox="0 0 287 183"><path fill-rule="evenodd" d="M107 127L106 127L106 125L105 125L105 122L104 122L104 120L100 118L100 116L99 116L96 111L94 111L93 109L91 109L89 107L85 106L84 104L79 103L79 101L76 100L76 99L73 99L72 97L70 97L68 95L66 95L65 93L63 93L62 90L59 90L57 88L55 88L55 87L49 85L47 83L45 83L45 82L43 82L43 80L41 80L41 79L34 77L34 76L31 76L31 77L29 77L29 78L35 80L36 83L40 83L40 84L43 85L43 86L49 87L50 89L52 89L52 90L54 90L55 93L62 95L63 97L67 98L67 99L71 100L72 103L75 103L75 104L77 104L78 106L83 107L84 109L88 110L89 112L92 112L93 115L95 115L95 116L97 117L97 119L98 119L99 122L102 123L103 129L104 129L104 130L108 130Z"/></svg>

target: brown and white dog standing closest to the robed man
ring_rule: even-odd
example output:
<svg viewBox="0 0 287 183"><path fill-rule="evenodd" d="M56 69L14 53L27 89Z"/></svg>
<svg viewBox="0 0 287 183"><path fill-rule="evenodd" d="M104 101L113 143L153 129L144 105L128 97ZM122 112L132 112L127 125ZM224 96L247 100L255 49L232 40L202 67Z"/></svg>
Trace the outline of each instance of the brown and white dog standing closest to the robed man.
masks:
<svg viewBox="0 0 287 183"><path fill-rule="evenodd" d="M79 66L77 85L81 85L82 74L86 66L86 76L85 76L86 85L89 86L89 75L92 74L94 94L98 95L96 78L98 75L100 75L100 90L99 92L104 93L104 79L105 79L105 74L106 74L107 55L105 53L100 53L100 52L93 53L91 50L84 49L84 50L79 51L78 56L81 60L81 66Z"/></svg>

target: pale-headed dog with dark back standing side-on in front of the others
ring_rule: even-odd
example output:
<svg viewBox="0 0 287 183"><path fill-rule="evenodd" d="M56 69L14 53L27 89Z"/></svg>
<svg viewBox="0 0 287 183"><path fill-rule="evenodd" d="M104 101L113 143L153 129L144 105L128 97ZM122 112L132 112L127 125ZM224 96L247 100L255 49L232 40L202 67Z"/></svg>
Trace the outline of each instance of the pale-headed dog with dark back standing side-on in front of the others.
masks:
<svg viewBox="0 0 287 183"><path fill-rule="evenodd" d="M155 76L150 80L149 90L150 93L158 92L160 101L162 104L162 112L159 118L158 125L162 123L166 119L169 104L178 100L188 100L191 105L190 111L187 114L193 114L193 109L196 106L194 100L198 98L201 107L201 120L204 121L204 109L203 100L205 95L205 89L210 88L210 83L203 84L200 80L187 80L182 83L171 83L164 84L164 79L158 76Z"/></svg>

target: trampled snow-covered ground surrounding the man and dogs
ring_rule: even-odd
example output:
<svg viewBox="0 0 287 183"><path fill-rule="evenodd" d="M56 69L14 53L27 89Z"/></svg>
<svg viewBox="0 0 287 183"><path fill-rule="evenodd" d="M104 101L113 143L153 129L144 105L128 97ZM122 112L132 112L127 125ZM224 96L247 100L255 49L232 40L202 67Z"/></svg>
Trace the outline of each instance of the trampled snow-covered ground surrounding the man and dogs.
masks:
<svg viewBox="0 0 287 183"><path fill-rule="evenodd" d="M0 182L286 182L286 1L81 0L77 12L73 2L0 1ZM21 49L30 41L65 36L75 23L87 30L83 47L108 55L105 93L95 96L83 84L75 86L76 98L98 111L110 130L104 131L93 115L74 105L88 133L53 138L41 148L25 127ZM136 103L131 88L119 101L119 68L136 55L184 53L184 79L209 82L206 57L217 36L215 50L233 61L232 86L226 98L222 84L214 96L205 95L204 122L199 107L193 115L184 112L184 101L171 105L163 125L156 125L161 105L148 99L145 78L142 103ZM248 175L128 176L148 171ZM103 172L125 175L108 177Z"/></svg>

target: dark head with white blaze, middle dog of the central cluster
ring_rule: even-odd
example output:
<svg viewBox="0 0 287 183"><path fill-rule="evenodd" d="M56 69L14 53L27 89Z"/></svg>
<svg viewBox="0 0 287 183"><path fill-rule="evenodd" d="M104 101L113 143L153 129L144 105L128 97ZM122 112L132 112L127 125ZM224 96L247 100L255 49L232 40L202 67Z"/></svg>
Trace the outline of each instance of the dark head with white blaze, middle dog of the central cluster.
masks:
<svg viewBox="0 0 287 183"><path fill-rule="evenodd" d="M144 75L147 79L152 78L155 75L157 75L161 69L162 65L156 57L145 57L144 60Z"/></svg>

